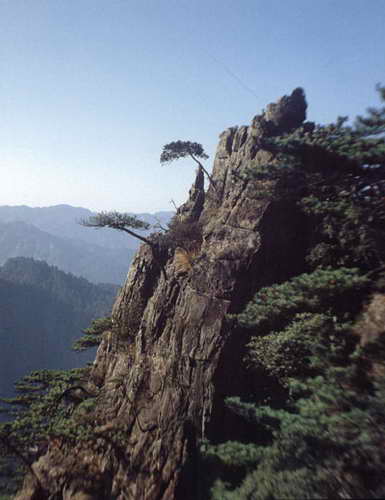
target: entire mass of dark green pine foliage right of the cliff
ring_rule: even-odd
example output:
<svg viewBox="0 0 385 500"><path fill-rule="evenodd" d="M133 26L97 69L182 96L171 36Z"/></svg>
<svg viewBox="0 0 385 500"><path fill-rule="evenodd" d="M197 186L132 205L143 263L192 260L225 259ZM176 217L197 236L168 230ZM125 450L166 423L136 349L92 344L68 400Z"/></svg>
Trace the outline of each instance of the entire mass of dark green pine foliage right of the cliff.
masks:
<svg viewBox="0 0 385 500"><path fill-rule="evenodd" d="M385 496L385 340L362 347L357 330L383 292L384 132L385 108L352 127L305 124L266 142L276 163L250 171L257 196L289 198L308 218L309 272L257 291L238 316L250 377L286 398L227 400L256 433L202 446L214 499Z"/></svg>

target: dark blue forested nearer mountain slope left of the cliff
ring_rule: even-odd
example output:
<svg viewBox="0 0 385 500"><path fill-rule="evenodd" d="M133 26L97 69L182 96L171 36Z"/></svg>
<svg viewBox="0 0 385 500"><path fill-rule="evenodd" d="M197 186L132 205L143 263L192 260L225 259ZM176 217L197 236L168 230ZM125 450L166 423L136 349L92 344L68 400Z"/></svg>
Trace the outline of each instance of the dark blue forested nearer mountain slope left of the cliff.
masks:
<svg viewBox="0 0 385 500"><path fill-rule="evenodd" d="M10 259L0 268L0 394L37 369L84 365L94 353L71 350L92 319L109 315L115 285L94 285L45 262Z"/></svg>

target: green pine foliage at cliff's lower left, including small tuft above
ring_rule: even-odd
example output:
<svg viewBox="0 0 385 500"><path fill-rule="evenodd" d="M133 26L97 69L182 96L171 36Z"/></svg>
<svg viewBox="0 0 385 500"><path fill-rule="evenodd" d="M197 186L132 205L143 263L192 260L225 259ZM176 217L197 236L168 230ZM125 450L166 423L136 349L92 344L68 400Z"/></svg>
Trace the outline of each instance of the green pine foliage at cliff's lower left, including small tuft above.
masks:
<svg viewBox="0 0 385 500"><path fill-rule="evenodd" d="M84 351L98 345L111 327L110 317L93 320L73 348ZM33 371L15 384L16 396L0 398L0 413L8 417L0 423L0 494L15 493L48 445L97 439L94 409L98 394L87 388L89 371L88 366ZM119 430L113 432L116 439L122 439ZM108 439L113 442L114 438Z"/></svg>

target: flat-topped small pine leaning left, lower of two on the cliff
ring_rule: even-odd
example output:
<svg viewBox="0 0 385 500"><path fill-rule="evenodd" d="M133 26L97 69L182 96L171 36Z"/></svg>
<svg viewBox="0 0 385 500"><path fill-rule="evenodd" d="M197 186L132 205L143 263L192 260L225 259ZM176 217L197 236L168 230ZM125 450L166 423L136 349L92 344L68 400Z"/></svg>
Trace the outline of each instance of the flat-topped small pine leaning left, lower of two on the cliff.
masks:
<svg viewBox="0 0 385 500"><path fill-rule="evenodd" d="M146 245L148 245L154 256L155 262L160 267L165 279L167 279L167 274L164 269L164 266L160 262L159 252L156 244L150 239L141 236L135 230L145 230L149 229L151 225L148 222L142 221L138 219L134 215L129 215L126 213L120 212L99 212L96 215L91 215L86 219L81 219L79 223L85 227L93 227L95 229L99 229L101 227L109 227L111 229L117 229L118 231L123 231L134 238L142 241Z"/></svg>

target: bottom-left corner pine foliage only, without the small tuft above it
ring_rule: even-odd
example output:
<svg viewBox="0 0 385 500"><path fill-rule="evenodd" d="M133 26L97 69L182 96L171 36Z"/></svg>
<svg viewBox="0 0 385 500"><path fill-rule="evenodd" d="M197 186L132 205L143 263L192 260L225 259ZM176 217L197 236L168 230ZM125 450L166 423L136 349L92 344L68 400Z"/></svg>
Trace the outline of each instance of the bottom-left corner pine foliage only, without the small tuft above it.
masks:
<svg viewBox="0 0 385 500"><path fill-rule="evenodd" d="M76 406L88 396L81 390L87 372L88 368L34 371L17 382L15 397L1 400L2 412L10 420L0 424L0 493L15 493L49 441L76 440L91 433L71 420Z"/></svg>

